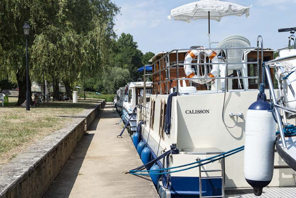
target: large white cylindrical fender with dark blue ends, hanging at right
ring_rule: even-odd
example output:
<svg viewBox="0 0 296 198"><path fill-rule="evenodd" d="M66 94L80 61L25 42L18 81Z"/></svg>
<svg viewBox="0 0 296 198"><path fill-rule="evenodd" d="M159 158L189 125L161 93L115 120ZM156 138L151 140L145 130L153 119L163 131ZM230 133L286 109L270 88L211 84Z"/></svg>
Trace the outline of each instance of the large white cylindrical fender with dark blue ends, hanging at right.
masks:
<svg viewBox="0 0 296 198"><path fill-rule="evenodd" d="M276 140L276 122L264 93L251 104L246 115L244 175L256 196L272 180Z"/></svg>

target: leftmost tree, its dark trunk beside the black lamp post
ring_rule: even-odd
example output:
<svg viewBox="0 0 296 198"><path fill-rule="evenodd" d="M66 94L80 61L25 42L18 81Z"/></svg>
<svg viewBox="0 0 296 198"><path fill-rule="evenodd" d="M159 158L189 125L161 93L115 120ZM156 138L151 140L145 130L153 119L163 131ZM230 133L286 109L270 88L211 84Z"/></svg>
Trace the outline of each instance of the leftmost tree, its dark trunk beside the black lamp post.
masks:
<svg viewBox="0 0 296 198"><path fill-rule="evenodd" d="M0 78L5 75L9 77L11 82L17 82L19 87L18 104L23 103L26 99L27 89L25 37L22 26L25 21L29 21L31 26L28 38L30 54L30 47L35 34L38 32L37 27L42 27L45 22L43 20L43 18L46 18L44 7L51 4L50 2L43 0L2 0L0 3ZM29 84L31 84L30 79ZM31 90L31 87L29 90Z"/></svg>

